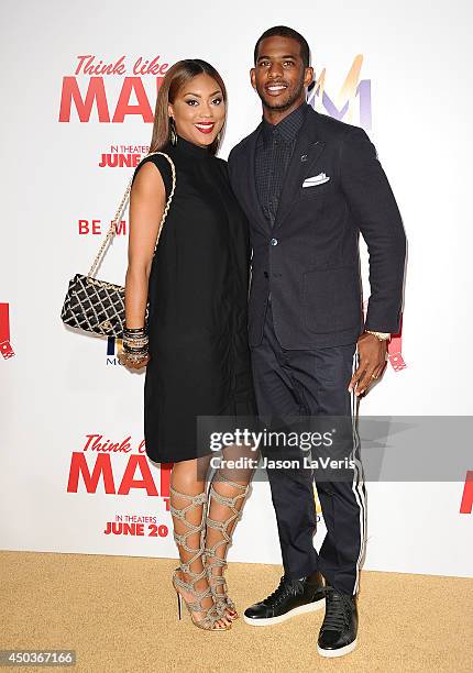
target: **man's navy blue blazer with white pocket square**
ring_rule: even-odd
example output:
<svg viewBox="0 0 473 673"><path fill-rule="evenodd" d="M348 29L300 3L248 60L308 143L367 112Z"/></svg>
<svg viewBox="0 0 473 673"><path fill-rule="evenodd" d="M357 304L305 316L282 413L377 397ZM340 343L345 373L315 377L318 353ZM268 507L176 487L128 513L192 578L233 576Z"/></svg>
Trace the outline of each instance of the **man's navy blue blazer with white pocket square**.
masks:
<svg viewBox="0 0 473 673"><path fill-rule="evenodd" d="M271 228L256 196L260 130L261 124L229 156L232 189L249 219L253 249L250 345L262 341L270 293L276 335L285 349L353 343L365 328L398 332L406 236L366 133L309 108ZM315 184L304 187L308 178ZM365 323L360 232L370 253Z"/></svg>

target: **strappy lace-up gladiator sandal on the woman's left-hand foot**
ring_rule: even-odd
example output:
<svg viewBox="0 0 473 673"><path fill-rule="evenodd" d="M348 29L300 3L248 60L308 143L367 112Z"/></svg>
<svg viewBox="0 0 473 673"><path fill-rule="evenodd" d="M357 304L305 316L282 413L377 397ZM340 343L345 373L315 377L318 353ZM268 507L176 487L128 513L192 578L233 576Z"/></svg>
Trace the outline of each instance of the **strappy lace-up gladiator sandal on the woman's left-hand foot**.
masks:
<svg viewBox="0 0 473 673"><path fill-rule="evenodd" d="M176 531L174 530L174 539L178 545L178 549L179 547L182 547L189 554L194 554L187 562L180 561L180 565L176 567L173 574L173 586L176 589L176 594L177 594L177 608L178 608L179 619L182 619L182 602L184 600L184 603L187 606L187 609L189 610L193 624L196 627L198 627L199 629L205 629L207 631L227 631L229 628L231 628L231 624L226 624L224 618L222 618L222 615L218 610L218 607L212 597L212 589L210 587L210 584L204 592L198 592L195 586L196 583L202 577L207 578L207 571L204 564L204 561L205 561L204 537L205 537L205 516L206 516L205 505L208 501L207 493L199 493L198 495L189 496L187 494L175 490L173 487L170 487L169 490L173 496L177 496L179 498L185 498L187 500L190 500L189 505L187 505L186 507L183 507L182 509L177 509L176 507L169 504L169 509L170 509L170 514L173 515L173 517L176 517L176 519L183 521L188 527L188 530L183 534L176 533ZM195 526L194 523L187 520L186 514L190 511L191 509L195 509L196 507L199 507L199 506L202 506L202 518L201 518L200 523L198 526ZM200 533L199 536L200 542L199 542L198 549L191 548L187 543L187 538L195 533ZM191 570L190 566L193 565L193 563L198 561L200 558L202 559L202 570L201 572L196 573L194 572L194 570ZM186 573L186 575L190 576L191 580L189 582L185 582L182 577L179 577L178 573L183 573L183 574ZM193 603L187 603L183 598L179 589L191 594L195 600L193 600ZM209 608L206 608L202 605L202 600L207 597L212 598L212 605ZM195 613L202 613L204 617L196 619L194 617ZM220 626L218 622L226 624L226 626Z"/></svg>

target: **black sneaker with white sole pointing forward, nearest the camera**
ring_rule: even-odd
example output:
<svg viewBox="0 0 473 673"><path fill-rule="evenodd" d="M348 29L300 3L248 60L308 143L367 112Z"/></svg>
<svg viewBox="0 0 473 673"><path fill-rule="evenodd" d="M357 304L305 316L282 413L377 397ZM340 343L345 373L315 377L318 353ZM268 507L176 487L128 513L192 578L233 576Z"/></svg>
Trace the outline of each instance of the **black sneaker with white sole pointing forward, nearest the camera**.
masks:
<svg viewBox="0 0 473 673"><path fill-rule="evenodd" d="M322 657L343 657L356 647L356 597L326 586L326 617L320 627L317 651Z"/></svg>

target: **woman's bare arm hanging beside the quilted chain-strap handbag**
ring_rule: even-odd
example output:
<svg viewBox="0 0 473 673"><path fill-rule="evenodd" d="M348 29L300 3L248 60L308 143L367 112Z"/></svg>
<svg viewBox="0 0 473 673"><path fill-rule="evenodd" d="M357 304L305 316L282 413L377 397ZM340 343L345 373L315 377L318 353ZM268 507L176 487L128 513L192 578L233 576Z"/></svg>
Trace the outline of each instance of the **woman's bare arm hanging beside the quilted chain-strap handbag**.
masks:
<svg viewBox="0 0 473 673"><path fill-rule="evenodd" d="M130 195L125 321L131 329L144 326L151 264L165 205L161 173L147 162L136 175Z"/></svg>

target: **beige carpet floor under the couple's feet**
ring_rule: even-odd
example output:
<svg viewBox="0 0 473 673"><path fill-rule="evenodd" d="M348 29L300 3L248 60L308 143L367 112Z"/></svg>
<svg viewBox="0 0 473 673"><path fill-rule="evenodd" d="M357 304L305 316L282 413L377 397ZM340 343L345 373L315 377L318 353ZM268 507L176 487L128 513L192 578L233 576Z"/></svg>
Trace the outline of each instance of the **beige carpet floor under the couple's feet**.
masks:
<svg viewBox="0 0 473 673"><path fill-rule="evenodd" d="M224 633L193 627L187 611L179 622L174 561L8 551L0 562L0 649L75 649L70 671L473 671L471 580L363 572L359 647L327 660L317 654L322 610L270 628L240 619ZM262 599L279 574L274 565L231 564L232 597L241 608Z"/></svg>

